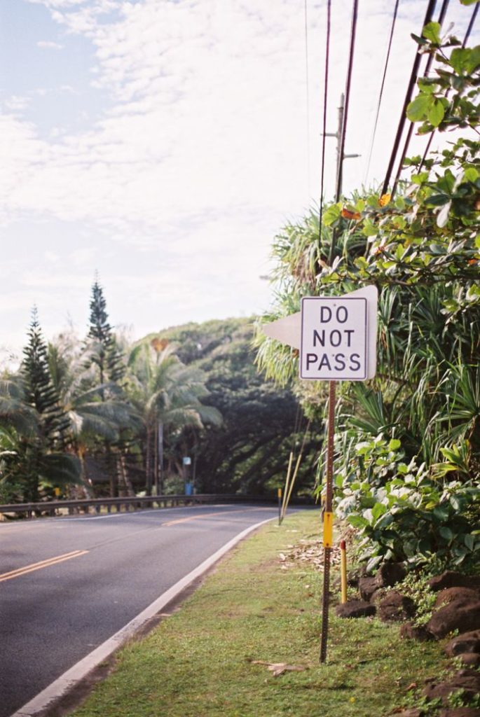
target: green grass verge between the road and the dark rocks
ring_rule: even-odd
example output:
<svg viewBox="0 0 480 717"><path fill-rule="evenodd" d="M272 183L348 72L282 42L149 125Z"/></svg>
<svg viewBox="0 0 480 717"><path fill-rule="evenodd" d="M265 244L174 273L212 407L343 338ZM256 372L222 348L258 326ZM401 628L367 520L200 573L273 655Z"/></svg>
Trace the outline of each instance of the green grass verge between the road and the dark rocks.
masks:
<svg viewBox="0 0 480 717"><path fill-rule="evenodd" d="M323 577L305 564L282 569L278 558L318 533L309 511L248 538L178 612L118 653L75 717L380 717L406 705L411 683L446 666L437 644L332 609L329 659L319 665ZM306 670L274 677L253 660Z"/></svg>

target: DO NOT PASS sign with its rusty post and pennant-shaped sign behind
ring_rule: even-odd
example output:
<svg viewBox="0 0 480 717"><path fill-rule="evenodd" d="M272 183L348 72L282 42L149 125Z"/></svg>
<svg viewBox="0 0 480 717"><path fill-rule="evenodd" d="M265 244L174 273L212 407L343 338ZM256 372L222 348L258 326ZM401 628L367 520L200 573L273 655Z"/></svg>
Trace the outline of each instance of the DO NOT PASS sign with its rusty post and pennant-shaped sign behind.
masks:
<svg viewBox="0 0 480 717"><path fill-rule="evenodd" d="M300 349L300 378L329 381L324 502L324 589L321 610L320 662L326 660L329 589L333 547L333 475L335 394L337 381L366 381L377 366L377 301L375 286L345 296L309 296L301 312L264 327L270 338Z"/></svg>

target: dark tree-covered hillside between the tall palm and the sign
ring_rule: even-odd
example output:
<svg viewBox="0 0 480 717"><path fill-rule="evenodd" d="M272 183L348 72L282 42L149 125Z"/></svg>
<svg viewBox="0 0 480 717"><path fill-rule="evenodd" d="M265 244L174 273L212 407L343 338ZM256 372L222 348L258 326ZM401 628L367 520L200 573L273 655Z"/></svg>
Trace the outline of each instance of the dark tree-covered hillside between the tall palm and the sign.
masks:
<svg viewBox="0 0 480 717"><path fill-rule="evenodd" d="M190 369L202 371L208 402L223 419L200 431L189 428L177 442L178 455L192 457L198 490L276 495L291 452L297 462L303 443L296 492L311 494L320 426L308 426L292 391L276 388L255 370L253 318L191 323L160 336L178 347Z"/></svg>

